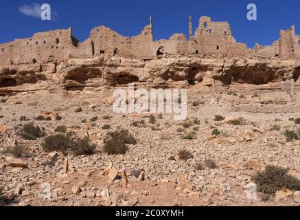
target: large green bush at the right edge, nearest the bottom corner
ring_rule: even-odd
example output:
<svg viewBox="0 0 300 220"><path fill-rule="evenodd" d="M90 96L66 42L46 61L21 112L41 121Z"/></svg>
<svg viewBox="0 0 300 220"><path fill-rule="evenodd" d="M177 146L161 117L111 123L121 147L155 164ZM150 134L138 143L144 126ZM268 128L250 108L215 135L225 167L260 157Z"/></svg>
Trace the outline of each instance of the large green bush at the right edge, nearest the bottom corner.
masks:
<svg viewBox="0 0 300 220"><path fill-rule="evenodd" d="M257 191L275 194L278 190L300 190L300 180L288 175L288 169L277 166L266 166L262 172L257 172L252 180L257 184Z"/></svg>

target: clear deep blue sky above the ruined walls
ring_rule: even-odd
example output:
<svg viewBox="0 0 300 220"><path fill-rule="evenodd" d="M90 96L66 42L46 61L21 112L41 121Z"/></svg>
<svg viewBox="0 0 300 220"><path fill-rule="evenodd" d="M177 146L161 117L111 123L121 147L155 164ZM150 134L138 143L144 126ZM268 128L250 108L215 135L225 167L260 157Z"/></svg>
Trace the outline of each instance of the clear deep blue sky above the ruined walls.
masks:
<svg viewBox="0 0 300 220"><path fill-rule="evenodd" d="M22 14L19 8L32 3L49 3L56 16L42 21ZM246 5L257 5L257 21L246 19ZM174 33L188 36L188 17L193 29L203 15L213 21L228 21L238 42L253 47L255 43L270 45L279 39L279 30L296 25L300 34L299 0L44 0L1 1L0 43L30 37L34 32L58 28L73 28L80 41L89 37L90 30L106 25L124 36L137 35L152 15L154 39L168 39Z"/></svg>

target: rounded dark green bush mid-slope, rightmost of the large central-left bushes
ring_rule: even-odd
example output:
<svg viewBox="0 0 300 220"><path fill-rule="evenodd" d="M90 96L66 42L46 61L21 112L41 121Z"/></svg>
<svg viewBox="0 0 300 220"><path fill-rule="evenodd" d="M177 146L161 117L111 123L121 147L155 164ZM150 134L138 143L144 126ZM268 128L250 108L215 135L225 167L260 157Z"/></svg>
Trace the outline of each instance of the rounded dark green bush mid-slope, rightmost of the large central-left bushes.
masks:
<svg viewBox="0 0 300 220"><path fill-rule="evenodd" d="M125 154L128 151L126 144L137 144L137 140L129 134L128 130L110 132L104 139L104 152L108 155Z"/></svg>

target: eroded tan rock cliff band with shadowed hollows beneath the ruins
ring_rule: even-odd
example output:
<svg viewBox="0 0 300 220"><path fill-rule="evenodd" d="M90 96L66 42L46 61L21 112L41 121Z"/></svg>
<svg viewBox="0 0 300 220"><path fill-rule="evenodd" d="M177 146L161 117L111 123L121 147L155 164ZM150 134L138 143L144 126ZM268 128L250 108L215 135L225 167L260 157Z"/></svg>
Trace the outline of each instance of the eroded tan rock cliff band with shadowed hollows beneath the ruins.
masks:
<svg viewBox="0 0 300 220"><path fill-rule="evenodd" d="M217 90L300 89L300 61L176 56L150 60L121 57L73 59L64 63L0 67L0 94L22 91L92 90L104 86Z"/></svg>

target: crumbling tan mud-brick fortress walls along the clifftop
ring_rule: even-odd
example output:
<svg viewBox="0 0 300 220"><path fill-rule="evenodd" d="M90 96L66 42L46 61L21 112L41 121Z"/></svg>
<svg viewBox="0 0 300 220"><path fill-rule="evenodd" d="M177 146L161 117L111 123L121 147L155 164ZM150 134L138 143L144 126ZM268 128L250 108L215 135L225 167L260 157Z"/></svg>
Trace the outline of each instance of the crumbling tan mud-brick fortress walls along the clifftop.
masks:
<svg viewBox="0 0 300 220"><path fill-rule="evenodd" d="M213 22L201 17L196 32L192 32L189 18L189 39L184 34L174 34L170 39L154 41L152 19L138 36L125 37L100 26L91 30L89 39L80 43L68 30L37 33L30 39L16 39L0 45L0 65L47 63L69 58L122 56L125 58L153 58L163 54L203 54L220 56L258 56L282 59L300 59L300 36L295 27L280 31L280 39L270 46L255 45L249 50L244 43L237 43L229 23Z"/></svg>

